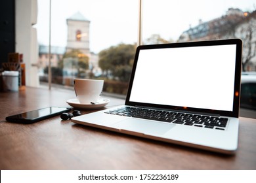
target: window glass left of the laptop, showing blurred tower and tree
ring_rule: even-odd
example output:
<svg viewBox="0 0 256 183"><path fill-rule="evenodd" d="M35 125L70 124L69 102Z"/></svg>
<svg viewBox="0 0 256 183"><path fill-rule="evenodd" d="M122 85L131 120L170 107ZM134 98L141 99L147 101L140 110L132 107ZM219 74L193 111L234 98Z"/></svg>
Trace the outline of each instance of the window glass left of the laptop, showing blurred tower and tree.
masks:
<svg viewBox="0 0 256 183"><path fill-rule="evenodd" d="M49 1L38 0L41 84L48 81ZM125 94L137 44L138 1L52 0L52 83L104 78L104 92Z"/></svg>

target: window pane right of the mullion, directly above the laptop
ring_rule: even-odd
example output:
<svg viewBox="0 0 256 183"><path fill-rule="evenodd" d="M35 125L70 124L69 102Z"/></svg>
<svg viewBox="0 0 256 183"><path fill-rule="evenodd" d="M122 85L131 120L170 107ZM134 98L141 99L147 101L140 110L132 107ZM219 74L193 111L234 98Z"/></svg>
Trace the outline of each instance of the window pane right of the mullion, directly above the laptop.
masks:
<svg viewBox="0 0 256 183"><path fill-rule="evenodd" d="M255 1L143 2L144 44L239 38L243 71L256 71Z"/></svg>

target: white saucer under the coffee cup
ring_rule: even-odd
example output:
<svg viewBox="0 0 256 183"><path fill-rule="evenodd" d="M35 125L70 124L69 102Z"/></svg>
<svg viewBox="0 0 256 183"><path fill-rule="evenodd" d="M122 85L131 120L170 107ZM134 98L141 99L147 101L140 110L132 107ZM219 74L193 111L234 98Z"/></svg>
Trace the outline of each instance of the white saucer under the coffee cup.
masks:
<svg viewBox="0 0 256 183"><path fill-rule="evenodd" d="M98 99L97 103L95 104L84 104L79 103L78 99L69 99L66 101L68 105L75 107L75 108L85 108L85 109L96 109L96 108L102 108L106 106L110 102L110 99Z"/></svg>

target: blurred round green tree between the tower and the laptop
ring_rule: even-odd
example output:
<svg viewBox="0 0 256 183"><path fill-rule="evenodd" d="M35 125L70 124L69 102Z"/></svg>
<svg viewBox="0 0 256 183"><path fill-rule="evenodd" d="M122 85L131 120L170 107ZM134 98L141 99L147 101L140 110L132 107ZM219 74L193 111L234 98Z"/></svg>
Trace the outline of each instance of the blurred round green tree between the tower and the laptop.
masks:
<svg viewBox="0 0 256 183"><path fill-rule="evenodd" d="M98 65L106 78L129 81L133 67L136 46L133 44L118 44L99 53Z"/></svg>

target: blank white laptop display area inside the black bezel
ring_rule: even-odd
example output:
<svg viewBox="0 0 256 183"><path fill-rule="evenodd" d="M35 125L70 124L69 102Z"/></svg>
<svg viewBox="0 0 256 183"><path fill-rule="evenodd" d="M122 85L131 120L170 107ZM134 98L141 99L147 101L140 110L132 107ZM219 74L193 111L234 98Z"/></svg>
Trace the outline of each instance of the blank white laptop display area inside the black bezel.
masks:
<svg viewBox="0 0 256 183"><path fill-rule="evenodd" d="M232 111L236 45L140 50L130 100Z"/></svg>

